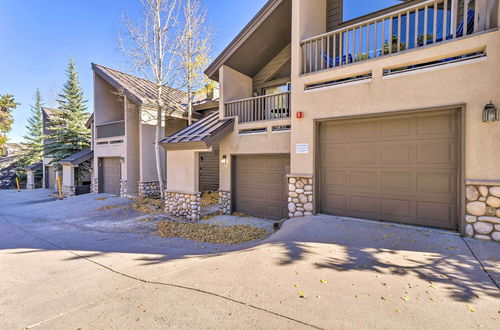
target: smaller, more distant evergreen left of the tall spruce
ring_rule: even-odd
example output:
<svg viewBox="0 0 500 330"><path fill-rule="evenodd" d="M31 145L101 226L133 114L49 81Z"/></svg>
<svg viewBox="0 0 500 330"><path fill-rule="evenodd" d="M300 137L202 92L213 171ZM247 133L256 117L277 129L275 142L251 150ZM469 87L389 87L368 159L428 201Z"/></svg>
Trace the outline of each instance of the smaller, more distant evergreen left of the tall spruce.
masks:
<svg viewBox="0 0 500 330"><path fill-rule="evenodd" d="M23 136L25 147L19 162L21 170L26 166L41 162L43 157L43 100L39 89L35 91L34 101L35 104L31 106L31 114L26 126L27 134Z"/></svg>

